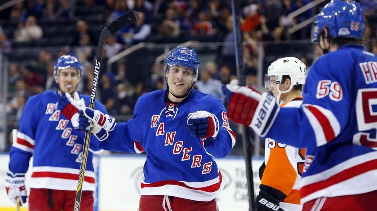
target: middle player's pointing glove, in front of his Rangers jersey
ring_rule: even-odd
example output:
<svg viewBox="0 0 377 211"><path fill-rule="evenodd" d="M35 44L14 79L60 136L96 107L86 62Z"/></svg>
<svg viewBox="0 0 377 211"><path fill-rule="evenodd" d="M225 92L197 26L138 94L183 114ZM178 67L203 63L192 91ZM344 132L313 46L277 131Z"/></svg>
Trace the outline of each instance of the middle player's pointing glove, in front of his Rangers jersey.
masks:
<svg viewBox="0 0 377 211"><path fill-rule="evenodd" d="M195 138L214 139L217 137L219 127L219 121L212 113L196 111L188 114L187 128Z"/></svg>

